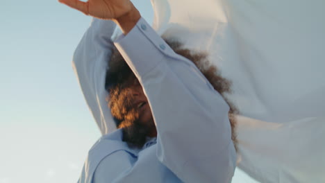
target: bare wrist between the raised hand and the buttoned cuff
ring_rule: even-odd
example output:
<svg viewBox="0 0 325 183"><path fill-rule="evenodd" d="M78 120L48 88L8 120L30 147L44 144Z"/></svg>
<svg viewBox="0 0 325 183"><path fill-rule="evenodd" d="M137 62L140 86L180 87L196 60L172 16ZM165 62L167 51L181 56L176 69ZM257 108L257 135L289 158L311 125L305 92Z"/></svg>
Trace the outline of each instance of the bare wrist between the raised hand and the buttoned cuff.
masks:
<svg viewBox="0 0 325 183"><path fill-rule="evenodd" d="M137 24L140 18L140 12L133 6L130 11L126 12L121 17L117 17L113 21L115 21L115 24L122 29L123 34L127 35L135 24Z"/></svg>

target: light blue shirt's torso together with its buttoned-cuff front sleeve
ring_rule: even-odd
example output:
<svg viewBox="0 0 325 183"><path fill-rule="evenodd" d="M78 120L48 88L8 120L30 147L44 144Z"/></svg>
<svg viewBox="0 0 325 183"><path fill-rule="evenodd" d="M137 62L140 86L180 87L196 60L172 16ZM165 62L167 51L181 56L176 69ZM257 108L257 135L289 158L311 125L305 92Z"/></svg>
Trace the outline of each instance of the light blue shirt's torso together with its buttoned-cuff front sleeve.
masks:
<svg viewBox="0 0 325 183"><path fill-rule="evenodd" d="M231 182L236 153L224 98L144 19L114 44L144 88L158 136L134 150L121 130L104 135L78 182Z"/></svg>

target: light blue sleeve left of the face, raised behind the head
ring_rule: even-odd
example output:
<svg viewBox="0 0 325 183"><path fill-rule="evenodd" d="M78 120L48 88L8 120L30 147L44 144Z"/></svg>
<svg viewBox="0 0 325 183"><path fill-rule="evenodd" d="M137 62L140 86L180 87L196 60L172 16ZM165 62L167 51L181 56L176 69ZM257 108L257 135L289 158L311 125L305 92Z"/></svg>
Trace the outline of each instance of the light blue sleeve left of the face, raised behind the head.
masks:
<svg viewBox="0 0 325 183"><path fill-rule="evenodd" d="M110 37L115 26L113 21L94 18L78 44L72 62L85 101L101 134L116 129L107 107L108 94L105 90L106 68L113 49Z"/></svg>

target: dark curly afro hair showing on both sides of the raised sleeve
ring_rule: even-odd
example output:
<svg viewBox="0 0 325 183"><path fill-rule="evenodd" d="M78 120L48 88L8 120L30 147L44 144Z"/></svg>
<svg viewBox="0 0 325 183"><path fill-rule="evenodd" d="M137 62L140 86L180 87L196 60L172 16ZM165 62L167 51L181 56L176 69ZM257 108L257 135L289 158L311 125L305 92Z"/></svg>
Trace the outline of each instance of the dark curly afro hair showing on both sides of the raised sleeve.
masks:
<svg viewBox="0 0 325 183"><path fill-rule="evenodd" d="M191 60L197 68L203 73L203 75L207 78L211 85L213 85L214 89L219 92L230 106L230 110L228 112L229 121L231 123L231 139L235 145L237 150L237 138L236 138L236 121L235 114L238 114L238 110L235 106L228 101L226 98L226 94L231 93L231 81L223 78L219 73L217 67L210 64L208 60L208 54L203 52L191 51L190 49L185 49L181 42L178 42L174 39L164 39L165 42L174 50L178 55L182 55L188 60ZM128 85L126 81L138 79L135 77L133 71L128 67L122 55L117 51L117 49L113 49L113 54L110 58L110 62L108 64L108 70L106 72L106 90L110 94L110 102L109 107L112 111L113 116L115 117L115 122L117 128L124 128L124 141L133 144L133 146L141 148L146 139L145 130L135 130L131 128L132 122L127 119L131 119L127 117L126 113L128 112L128 107L117 107L121 106L116 105L117 103L121 103L119 98L122 98L123 95L123 87ZM125 101L124 101L125 103ZM124 106L124 105L122 105ZM137 134L132 134L135 132Z"/></svg>

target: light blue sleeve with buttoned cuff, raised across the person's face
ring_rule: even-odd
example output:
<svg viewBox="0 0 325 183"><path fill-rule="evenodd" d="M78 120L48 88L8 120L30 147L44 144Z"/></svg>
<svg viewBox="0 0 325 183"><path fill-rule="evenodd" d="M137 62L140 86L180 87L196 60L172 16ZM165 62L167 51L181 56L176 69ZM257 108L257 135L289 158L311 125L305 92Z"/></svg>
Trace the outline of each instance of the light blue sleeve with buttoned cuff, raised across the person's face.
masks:
<svg viewBox="0 0 325 183"><path fill-rule="evenodd" d="M160 162L183 182L230 182L236 155L224 98L144 19L115 46L149 100Z"/></svg>

